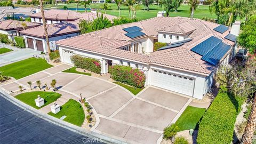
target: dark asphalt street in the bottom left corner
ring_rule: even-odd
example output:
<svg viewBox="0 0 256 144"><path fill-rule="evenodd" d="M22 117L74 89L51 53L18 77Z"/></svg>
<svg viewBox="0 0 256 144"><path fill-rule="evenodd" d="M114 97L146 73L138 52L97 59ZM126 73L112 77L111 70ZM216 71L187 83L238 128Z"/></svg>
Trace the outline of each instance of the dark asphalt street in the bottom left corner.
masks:
<svg viewBox="0 0 256 144"><path fill-rule="evenodd" d="M0 110L0 143L100 143L86 142L84 135L45 121L2 96Z"/></svg>

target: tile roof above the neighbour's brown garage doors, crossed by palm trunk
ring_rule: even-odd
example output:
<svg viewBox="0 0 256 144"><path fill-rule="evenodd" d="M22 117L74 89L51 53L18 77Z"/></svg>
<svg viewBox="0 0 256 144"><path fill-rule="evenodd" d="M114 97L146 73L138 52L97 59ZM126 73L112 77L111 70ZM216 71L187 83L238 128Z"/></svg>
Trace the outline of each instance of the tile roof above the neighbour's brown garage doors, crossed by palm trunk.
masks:
<svg viewBox="0 0 256 144"><path fill-rule="evenodd" d="M76 21L68 23L61 22L49 24L46 25L46 27L49 37L80 32ZM20 33L29 36L45 38L44 26L22 30L20 31Z"/></svg>

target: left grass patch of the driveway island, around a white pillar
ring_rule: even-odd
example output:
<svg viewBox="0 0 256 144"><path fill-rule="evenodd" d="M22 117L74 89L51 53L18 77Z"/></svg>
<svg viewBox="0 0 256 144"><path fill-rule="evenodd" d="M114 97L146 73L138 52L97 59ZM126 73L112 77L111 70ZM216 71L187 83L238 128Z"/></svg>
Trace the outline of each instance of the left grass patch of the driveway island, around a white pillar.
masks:
<svg viewBox="0 0 256 144"><path fill-rule="evenodd" d="M35 91L35 92L26 92L21 93L14 98L26 103L27 105L39 109L42 107L37 107L35 103L35 99L37 98L37 95L40 95L41 98L44 98L44 106L49 105L50 103L56 101L58 98L60 98L61 94L56 92L42 92L42 91Z"/></svg>

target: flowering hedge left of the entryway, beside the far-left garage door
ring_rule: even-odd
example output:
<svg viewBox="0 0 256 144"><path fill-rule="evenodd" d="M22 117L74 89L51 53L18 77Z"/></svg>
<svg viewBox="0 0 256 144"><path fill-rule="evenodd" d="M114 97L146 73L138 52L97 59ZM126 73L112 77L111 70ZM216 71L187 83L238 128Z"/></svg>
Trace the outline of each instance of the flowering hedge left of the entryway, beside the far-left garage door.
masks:
<svg viewBox="0 0 256 144"><path fill-rule="evenodd" d="M90 70L93 73L100 74L101 63L99 60L84 58L80 55L72 55L70 57L71 61L74 63L75 67Z"/></svg>

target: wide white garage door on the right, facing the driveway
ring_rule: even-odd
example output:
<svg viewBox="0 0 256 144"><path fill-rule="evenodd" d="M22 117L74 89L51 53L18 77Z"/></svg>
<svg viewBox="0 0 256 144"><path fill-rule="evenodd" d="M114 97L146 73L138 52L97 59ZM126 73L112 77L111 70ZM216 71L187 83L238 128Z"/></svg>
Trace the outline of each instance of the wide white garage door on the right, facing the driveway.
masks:
<svg viewBox="0 0 256 144"><path fill-rule="evenodd" d="M151 84L163 89L193 96L195 79L154 69L152 71Z"/></svg>

